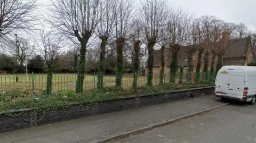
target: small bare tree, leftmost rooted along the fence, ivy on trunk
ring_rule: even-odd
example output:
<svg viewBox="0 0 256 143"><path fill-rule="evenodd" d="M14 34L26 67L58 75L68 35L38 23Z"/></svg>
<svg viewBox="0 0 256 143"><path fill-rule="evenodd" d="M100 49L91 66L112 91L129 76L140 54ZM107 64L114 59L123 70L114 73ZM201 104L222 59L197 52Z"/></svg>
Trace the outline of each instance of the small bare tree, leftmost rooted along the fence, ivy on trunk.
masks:
<svg viewBox="0 0 256 143"><path fill-rule="evenodd" d="M47 81L46 81L46 94L50 95L52 92L52 74L55 62L61 56L62 38L56 37L52 28L49 31L45 30L46 27L42 25L39 31L41 43L37 43L37 51L43 56L47 65Z"/></svg>

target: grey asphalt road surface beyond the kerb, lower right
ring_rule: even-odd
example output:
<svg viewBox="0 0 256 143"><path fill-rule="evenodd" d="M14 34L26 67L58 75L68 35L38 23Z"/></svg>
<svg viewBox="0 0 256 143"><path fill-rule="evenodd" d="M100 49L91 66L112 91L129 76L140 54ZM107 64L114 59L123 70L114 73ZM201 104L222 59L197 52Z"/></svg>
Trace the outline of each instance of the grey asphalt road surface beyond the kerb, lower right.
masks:
<svg viewBox="0 0 256 143"><path fill-rule="evenodd" d="M114 143L223 143L256 142L256 105L229 106L187 120L164 125Z"/></svg>

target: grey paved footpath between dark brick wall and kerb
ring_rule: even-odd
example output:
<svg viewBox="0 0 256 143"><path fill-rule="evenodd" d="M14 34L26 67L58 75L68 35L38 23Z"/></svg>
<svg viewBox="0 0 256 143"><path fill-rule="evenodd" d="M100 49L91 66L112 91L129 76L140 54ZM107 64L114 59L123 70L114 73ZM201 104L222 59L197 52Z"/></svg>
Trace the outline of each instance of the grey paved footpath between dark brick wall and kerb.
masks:
<svg viewBox="0 0 256 143"><path fill-rule="evenodd" d="M133 110L4 132L0 133L0 142L93 142L112 137L113 134L129 132L223 104L225 103L222 100L213 95L188 98ZM181 131L178 132L182 133ZM172 135L170 134L170 136Z"/></svg>

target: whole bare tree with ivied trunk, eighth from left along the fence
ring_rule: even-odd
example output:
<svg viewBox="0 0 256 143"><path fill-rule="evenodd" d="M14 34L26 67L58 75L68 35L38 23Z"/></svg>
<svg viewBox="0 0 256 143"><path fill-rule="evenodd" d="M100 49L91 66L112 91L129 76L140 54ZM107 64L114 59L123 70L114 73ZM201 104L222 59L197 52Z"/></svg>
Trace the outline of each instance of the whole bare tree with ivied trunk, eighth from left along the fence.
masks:
<svg viewBox="0 0 256 143"><path fill-rule="evenodd" d="M167 22L167 45L172 51L172 62L170 65L170 82L175 82L177 72L178 52L182 46L188 43L189 26L193 14L180 8L175 9L169 16Z"/></svg>

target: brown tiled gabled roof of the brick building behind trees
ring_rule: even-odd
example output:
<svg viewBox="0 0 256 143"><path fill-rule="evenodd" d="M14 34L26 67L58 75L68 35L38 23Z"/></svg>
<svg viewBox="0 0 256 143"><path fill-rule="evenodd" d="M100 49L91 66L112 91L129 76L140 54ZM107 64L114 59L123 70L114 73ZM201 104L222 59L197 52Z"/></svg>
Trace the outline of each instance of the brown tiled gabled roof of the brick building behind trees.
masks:
<svg viewBox="0 0 256 143"><path fill-rule="evenodd" d="M230 57L244 57L245 52L247 52L249 44L250 44L251 37L245 37L241 39L231 39L228 41L228 48L223 56L223 58L230 58ZM189 49L193 49L196 46L184 46L180 48L178 53L178 66L188 66L187 58L188 58L188 51ZM172 51L170 48L165 48L167 52L168 59L166 66L170 66L172 60ZM240 65L240 63L238 64ZM161 51L156 50L154 51L154 67L161 66ZM147 66L146 66L147 67Z"/></svg>

